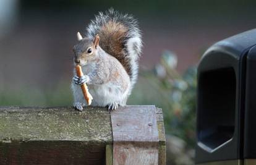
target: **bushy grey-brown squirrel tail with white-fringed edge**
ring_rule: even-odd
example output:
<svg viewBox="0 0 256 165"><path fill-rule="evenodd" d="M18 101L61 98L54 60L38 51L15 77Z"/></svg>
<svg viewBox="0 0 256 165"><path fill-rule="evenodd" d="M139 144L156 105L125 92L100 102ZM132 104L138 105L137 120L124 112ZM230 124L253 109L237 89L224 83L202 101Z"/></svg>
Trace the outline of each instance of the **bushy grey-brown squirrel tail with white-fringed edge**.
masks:
<svg viewBox="0 0 256 165"><path fill-rule="evenodd" d="M114 9L100 12L88 25L86 35L93 40L96 34L100 35L101 48L124 66L133 87L137 80L138 60L142 50L137 20L132 15L120 14Z"/></svg>

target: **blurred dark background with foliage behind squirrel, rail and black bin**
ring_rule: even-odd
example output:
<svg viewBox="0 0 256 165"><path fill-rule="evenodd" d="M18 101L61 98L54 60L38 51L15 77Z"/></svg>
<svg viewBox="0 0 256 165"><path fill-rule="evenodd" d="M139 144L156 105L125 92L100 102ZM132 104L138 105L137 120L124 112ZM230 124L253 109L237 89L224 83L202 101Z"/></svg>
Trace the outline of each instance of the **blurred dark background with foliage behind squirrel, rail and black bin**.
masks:
<svg viewBox="0 0 256 165"><path fill-rule="evenodd" d="M0 0L0 105L72 106L72 47L98 11L135 15L143 32L129 104L163 108L168 164L194 164L197 64L213 43L255 28L256 1Z"/></svg>

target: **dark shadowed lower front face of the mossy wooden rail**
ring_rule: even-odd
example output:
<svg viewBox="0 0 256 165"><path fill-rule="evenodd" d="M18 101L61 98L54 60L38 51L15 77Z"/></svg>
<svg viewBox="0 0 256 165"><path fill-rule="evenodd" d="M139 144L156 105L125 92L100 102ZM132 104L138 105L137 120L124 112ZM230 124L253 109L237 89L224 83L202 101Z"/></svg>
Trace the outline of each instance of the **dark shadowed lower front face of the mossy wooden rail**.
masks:
<svg viewBox="0 0 256 165"><path fill-rule="evenodd" d="M105 145L76 141L1 143L0 164L103 164Z"/></svg>

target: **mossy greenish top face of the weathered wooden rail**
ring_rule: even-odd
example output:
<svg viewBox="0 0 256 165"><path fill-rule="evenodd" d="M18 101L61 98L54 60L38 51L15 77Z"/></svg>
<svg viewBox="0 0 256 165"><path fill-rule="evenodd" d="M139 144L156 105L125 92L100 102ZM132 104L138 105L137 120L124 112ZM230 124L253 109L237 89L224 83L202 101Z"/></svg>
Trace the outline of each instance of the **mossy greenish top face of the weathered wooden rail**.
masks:
<svg viewBox="0 0 256 165"><path fill-rule="evenodd" d="M72 140L112 143L108 109L0 107L0 142Z"/></svg>

